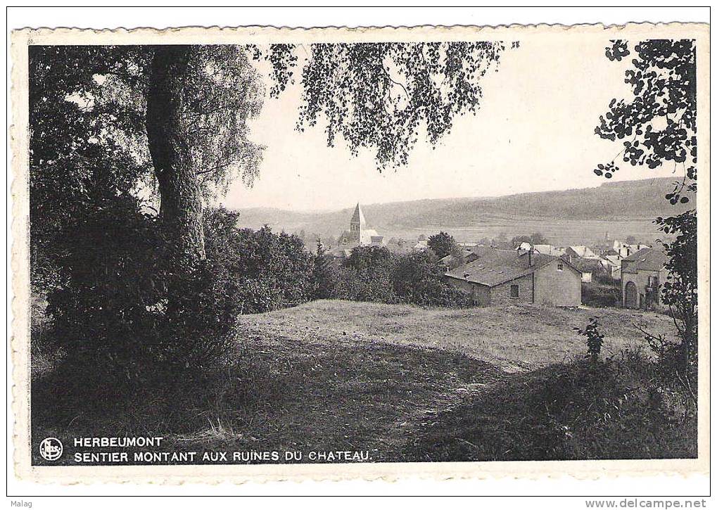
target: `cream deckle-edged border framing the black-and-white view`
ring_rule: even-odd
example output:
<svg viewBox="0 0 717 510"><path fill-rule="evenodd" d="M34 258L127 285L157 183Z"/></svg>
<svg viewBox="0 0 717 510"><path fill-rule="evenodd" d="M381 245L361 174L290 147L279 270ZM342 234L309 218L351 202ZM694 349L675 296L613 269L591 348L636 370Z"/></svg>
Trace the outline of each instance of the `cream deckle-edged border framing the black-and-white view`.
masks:
<svg viewBox="0 0 717 510"><path fill-rule="evenodd" d="M267 44L277 42L427 42L449 40L525 40L539 37L608 39L690 38L697 41L698 70L698 277L699 402L697 459L646 461L516 461L475 463L264 464L257 466L31 466L29 438L29 158L27 46L29 44ZM709 25L698 23L630 23L626 25L559 24L496 27L183 27L171 29L21 29L11 34L12 89L12 362L14 466L18 478L44 483L233 483L265 481L338 481L353 478L395 481L399 478L551 478L580 479L688 476L709 472Z"/></svg>

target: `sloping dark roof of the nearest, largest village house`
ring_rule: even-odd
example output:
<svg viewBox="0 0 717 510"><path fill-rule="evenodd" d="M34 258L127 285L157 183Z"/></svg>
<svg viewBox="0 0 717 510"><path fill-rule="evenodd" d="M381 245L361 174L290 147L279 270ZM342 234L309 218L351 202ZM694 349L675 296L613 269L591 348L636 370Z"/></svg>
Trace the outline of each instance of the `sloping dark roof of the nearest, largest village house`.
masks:
<svg viewBox="0 0 717 510"><path fill-rule="evenodd" d="M529 275L558 259L552 255L533 252L531 255L532 265L528 265L528 252L524 250L484 248L473 250L473 252L478 257L476 260L460 265L446 275L459 280L495 287L495 285Z"/></svg>

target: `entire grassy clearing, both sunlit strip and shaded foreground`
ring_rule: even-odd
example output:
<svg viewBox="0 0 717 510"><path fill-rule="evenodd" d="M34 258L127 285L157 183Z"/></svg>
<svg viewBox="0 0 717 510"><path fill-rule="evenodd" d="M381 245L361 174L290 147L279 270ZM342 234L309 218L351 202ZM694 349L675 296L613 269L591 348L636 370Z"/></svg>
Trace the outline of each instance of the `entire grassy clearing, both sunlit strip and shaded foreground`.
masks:
<svg viewBox="0 0 717 510"><path fill-rule="evenodd" d="M553 364L584 354L572 328L591 316L600 318L607 355L642 342L632 323L671 333L665 316L618 309L315 301L243 316L236 363L221 384L186 384L171 402L151 392L134 395L102 419L63 415L59 404L34 406L34 435L63 442L82 435L161 435L166 448L177 450L361 450L371 461L435 460L426 452L440 443L436 438L448 437L445 431L463 444L463 425L455 420L466 412L475 416L476 402L514 396L516 384L528 387L531 378L545 379ZM37 401L46 387L42 379L34 383ZM500 420L511 419L505 412L495 409L486 420L503 428ZM481 423L465 427L484 430ZM437 460L465 457L455 445L436 448L443 452ZM502 457L485 450L477 458Z"/></svg>

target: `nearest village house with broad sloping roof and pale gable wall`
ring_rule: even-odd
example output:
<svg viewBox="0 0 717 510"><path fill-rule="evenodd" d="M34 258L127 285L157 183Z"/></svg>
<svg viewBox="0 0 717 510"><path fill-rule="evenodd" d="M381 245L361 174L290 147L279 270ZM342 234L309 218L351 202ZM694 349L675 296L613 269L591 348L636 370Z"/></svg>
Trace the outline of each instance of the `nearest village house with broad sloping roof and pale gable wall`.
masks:
<svg viewBox="0 0 717 510"><path fill-rule="evenodd" d="M448 271L445 278L470 293L476 305L581 303L581 273L566 260L533 250L476 247L473 252L473 262Z"/></svg>

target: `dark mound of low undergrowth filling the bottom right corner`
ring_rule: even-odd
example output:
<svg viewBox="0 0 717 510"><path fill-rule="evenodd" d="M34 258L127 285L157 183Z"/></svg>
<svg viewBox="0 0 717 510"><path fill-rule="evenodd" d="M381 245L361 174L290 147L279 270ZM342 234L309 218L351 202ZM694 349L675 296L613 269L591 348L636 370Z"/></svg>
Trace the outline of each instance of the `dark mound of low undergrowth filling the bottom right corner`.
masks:
<svg viewBox="0 0 717 510"><path fill-rule="evenodd" d="M439 417L407 460L694 458L696 432L683 387L630 350L508 377Z"/></svg>

